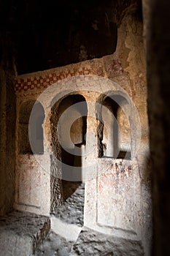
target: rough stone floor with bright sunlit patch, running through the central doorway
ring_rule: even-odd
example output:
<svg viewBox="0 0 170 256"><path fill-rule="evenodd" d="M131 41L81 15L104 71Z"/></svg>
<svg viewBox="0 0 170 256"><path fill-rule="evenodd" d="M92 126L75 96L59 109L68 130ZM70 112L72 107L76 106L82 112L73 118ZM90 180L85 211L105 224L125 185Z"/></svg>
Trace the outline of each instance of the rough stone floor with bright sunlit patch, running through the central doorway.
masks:
<svg viewBox="0 0 170 256"><path fill-rule="evenodd" d="M143 256L140 241L83 227L84 189L80 183L63 184L65 202L51 217L50 233L36 250L36 256Z"/></svg>

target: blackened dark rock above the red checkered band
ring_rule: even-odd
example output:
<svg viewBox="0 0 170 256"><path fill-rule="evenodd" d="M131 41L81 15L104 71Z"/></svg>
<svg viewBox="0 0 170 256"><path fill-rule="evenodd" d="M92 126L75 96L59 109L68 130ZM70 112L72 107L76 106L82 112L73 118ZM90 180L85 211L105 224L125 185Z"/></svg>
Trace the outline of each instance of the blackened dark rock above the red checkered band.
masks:
<svg viewBox="0 0 170 256"><path fill-rule="evenodd" d="M24 74L114 53L117 27L139 7L139 0L6 1L0 17L15 42L18 73Z"/></svg>

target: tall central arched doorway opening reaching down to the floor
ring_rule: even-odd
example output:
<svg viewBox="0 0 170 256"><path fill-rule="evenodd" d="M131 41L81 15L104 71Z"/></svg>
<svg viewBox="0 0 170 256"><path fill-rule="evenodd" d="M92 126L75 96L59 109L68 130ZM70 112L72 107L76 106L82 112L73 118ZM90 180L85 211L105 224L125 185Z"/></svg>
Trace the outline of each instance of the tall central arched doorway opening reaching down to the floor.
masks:
<svg viewBox="0 0 170 256"><path fill-rule="evenodd" d="M59 203L57 203L58 198L53 198L52 211L56 217L60 216L61 219L77 225L83 225L82 151L86 143L87 115L85 97L80 94L70 94L53 105L50 118L52 148L55 159L60 161L61 173L57 176L63 197ZM53 173L57 165L52 162ZM51 185L55 186L55 184ZM51 189L53 190L53 187ZM58 207L59 205L61 206ZM79 217L77 213L80 213ZM66 214L70 216L67 220Z"/></svg>

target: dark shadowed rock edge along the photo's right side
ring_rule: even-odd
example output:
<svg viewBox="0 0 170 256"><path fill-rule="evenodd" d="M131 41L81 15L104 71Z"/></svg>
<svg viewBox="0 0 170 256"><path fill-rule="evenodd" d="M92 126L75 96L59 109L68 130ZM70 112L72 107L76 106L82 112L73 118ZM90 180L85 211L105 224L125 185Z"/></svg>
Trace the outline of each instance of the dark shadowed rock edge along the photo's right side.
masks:
<svg viewBox="0 0 170 256"><path fill-rule="evenodd" d="M147 27L148 115L155 240L152 255L161 256L170 255L170 3L165 0L143 2Z"/></svg>

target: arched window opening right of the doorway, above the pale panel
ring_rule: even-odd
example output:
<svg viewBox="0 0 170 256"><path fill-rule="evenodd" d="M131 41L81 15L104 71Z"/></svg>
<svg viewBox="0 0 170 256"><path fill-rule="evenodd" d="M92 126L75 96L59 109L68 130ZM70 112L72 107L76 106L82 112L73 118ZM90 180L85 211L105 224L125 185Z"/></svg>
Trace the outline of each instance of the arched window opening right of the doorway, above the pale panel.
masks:
<svg viewBox="0 0 170 256"><path fill-rule="evenodd" d="M131 159L131 107L120 94L103 95L97 109L98 157Z"/></svg>

